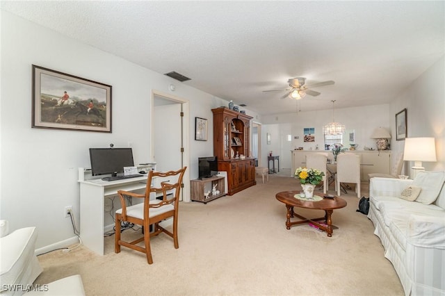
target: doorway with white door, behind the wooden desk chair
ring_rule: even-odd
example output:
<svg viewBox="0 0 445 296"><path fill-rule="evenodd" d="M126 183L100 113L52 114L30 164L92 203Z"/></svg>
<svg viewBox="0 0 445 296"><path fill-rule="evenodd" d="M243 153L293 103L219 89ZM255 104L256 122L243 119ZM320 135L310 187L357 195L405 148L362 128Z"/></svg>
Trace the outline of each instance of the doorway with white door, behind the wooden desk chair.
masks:
<svg viewBox="0 0 445 296"><path fill-rule="evenodd" d="M150 158L156 170L165 172L190 168L188 101L179 97L152 91ZM184 174L181 200L190 202L190 172Z"/></svg>

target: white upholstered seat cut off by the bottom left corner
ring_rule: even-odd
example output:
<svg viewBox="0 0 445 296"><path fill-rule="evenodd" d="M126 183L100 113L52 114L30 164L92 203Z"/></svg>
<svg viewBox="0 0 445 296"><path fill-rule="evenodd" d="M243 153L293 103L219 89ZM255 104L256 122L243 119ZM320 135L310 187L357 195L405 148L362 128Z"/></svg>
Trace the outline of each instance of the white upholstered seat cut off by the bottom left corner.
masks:
<svg viewBox="0 0 445 296"><path fill-rule="evenodd" d="M85 295L79 274L44 285L33 285L42 273L35 256L36 240L35 227L9 233L8 221L0 220L0 295Z"/></svg>

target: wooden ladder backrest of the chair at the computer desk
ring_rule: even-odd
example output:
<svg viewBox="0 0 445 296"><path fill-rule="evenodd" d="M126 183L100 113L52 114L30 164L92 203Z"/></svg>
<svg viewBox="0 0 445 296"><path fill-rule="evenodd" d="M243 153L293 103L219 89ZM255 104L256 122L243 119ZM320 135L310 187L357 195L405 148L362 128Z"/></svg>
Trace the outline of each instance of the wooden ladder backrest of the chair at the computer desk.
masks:
<svg viewBox="0 0 445 296"><path fill-rule="evenodd" d="M145 207L156 208L164 206L165 204L173 204L175 208L179 203L179 195L181 192L182 179L187 167L183 167L177 171L168 172L154 172L150 170L147 177L147 187L145 188ZM158 179L159 180L156 180ZM154 184L159 183L161 187L155 187ZM152 193L162 192L162 200L159 203L153 204L149 202ZM144 209L145 211L145 209Z"/></svg>

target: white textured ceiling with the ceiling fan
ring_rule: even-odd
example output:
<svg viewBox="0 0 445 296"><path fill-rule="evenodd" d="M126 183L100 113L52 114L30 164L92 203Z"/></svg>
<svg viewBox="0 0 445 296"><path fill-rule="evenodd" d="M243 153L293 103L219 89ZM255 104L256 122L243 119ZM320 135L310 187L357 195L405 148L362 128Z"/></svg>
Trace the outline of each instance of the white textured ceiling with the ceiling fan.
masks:
<svg viewBox="0 0 445 296"><path fill-rule="evenodd" d="M261 115L388 103L445 53L444 1L1 1ZM318 97L280 99L289 78ZM179 85L177 81L175 84Z"/></svg>

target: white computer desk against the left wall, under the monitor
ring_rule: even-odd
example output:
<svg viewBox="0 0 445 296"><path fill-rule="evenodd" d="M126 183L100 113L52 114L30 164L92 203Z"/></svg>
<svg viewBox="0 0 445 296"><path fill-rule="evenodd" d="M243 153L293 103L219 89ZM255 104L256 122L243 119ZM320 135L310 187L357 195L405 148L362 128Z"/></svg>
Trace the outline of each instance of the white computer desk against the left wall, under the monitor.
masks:
<svg viewBox="0 0 445 296"><path fill-rule="evenodd" d="M90 179L90 172L79 167L80 237L83 245L103 256L105 197L117 195L118 190L143 191L147 185L147 175L117 181L102 181L100 178ZM157 186L155 179L152 185ZM156 199L156 195L150 199Z"/></svg>

